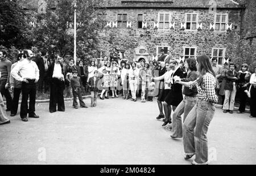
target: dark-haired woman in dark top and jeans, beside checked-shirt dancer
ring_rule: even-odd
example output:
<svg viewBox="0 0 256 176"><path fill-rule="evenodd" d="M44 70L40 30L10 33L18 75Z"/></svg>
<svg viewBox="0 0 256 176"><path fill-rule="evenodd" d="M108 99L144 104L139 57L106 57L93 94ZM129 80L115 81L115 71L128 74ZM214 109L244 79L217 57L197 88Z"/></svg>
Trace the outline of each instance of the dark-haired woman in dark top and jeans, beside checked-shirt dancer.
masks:
<svg viewBox="0 0 256 176"><path fill-rule="evenodd" d="M185 61L185 69L187 71L187 78L181 79L181 81L189 82L197 79L197 69L196 69L196 59L188 58ZM171 138L182 138L182 122L181 115L183 115L183 123L191 111L191 109L195 106L197 101L197 89L196 87L189 89L188 87L184 87L183 95L185 95L183 101L177 106L174 111L174 115L172 115L172 135Z"/></svg>

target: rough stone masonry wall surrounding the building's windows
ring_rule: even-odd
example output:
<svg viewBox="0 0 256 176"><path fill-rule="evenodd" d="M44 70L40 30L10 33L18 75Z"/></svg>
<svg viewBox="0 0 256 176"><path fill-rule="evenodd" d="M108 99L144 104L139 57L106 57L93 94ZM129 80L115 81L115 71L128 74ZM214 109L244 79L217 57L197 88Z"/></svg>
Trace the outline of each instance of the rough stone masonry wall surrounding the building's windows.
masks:
<svg viewBox="0 0 256 176"><path fill-rule="evenodd" d="M158 21L159 12L170 12L171 21L175 22L175 29L153 29L153 22ZM180 30L180 22L185 22L185 13L197 13L199 23L203 23L201 31ZM233 30L228 32L210 31L210 23L214 22L214 14L208 10L189 9L109 9L106 10L106 20L116 21L117 14L127 14L127 20L132 22L131 28L105 28L100 32L100 49L106 55L113 46L125 50L127 59L137 59L135 49L144 46L148 51L148 59L156 54L157 46L170 46L174 58L184 55L184 47L197 47L197 55L212 55L212 48L226 48L226 57L232 55L240 40L240 10L217 10L220 14L229 14L229 23L233 23ZM143 14L143 20L149 24L146 29L137 27L138 14ZM236 26L236 29L234 27ZM141 36L143 35L143 36Z"/></svg>

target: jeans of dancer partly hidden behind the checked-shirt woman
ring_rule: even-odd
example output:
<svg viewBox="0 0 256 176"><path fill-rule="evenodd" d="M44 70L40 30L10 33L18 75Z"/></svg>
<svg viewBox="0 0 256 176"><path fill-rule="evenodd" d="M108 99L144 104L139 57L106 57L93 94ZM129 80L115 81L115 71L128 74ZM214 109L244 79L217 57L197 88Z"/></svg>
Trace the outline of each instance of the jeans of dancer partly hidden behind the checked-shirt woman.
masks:
<svg viewBox="0 0 256 176"><path fill-rule="evenodd" d="M191 109L196 105L197 97L185 96L183 101L177 106L174 111L174 115L172 115L172 136L176 138L182 138L182 122L181 122L181 114L183 115L183 123L187 118L188 113Z"/></svg>

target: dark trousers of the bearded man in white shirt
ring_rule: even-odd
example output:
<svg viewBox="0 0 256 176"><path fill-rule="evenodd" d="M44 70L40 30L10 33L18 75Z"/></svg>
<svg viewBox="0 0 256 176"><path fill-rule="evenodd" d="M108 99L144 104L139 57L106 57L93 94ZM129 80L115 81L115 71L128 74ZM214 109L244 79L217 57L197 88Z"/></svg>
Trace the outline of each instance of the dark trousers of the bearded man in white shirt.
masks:
<svg viewBox="0 0 256 176"><path fill-rule="evenodd" d="M30 97L29 108L27 105L28 96ZM35 114L36 83L35 80L28 80L28 83L22 82L22 103L20 105L20 118L26 118L28 115Z"/></svg>

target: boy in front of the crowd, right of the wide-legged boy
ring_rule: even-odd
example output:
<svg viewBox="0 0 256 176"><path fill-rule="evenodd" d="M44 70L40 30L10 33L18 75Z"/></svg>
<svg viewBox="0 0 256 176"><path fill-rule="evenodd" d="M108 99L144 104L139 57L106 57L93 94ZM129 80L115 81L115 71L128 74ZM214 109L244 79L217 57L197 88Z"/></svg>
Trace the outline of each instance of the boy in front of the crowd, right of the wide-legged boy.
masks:
<svg viewBox="0 0 256 176"><path fill-rule="evenodd" d="M88 81L90 87L90 106L96 107L97 104L97 96L98 96L98 88L101 83L99 82L100 78L98 78L98 71L94 71L94 76L91 77Z"/></svg>

